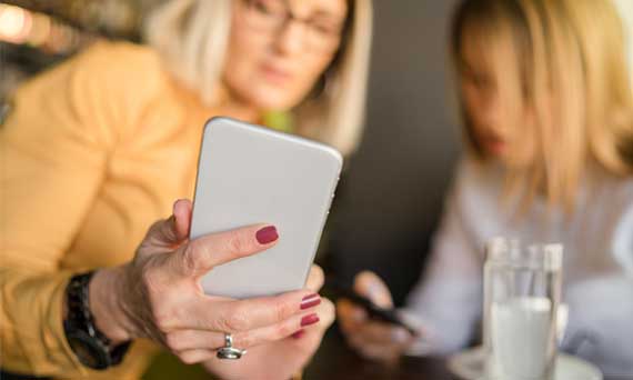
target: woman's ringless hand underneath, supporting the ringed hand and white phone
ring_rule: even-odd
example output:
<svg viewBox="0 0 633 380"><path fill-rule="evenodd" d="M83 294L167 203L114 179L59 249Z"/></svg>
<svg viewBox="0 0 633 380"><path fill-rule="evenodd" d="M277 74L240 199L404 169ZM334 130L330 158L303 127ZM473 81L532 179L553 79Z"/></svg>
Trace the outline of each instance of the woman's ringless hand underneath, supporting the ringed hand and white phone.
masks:
<svg viewBox="0 0 633 380"><path fill-rule="evenodd" d="M323 271L313 266L307 287L318 292L323 286ZM299 373L314 354L325 330L334 321L334 304L322 299L315 308L320 322L311 329L278 341L253 347L240 360L228 361L212 358L204 367L221 379L285 380Z"/></svg>

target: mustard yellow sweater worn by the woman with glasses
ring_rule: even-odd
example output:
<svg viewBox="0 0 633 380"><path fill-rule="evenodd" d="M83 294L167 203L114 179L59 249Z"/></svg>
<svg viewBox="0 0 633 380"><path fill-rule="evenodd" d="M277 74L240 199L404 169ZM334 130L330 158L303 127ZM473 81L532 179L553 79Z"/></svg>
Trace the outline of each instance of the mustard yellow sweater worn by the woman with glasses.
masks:
<svg viewBox="0 0 633 380"><path fill-rule="evenodd" d="M191 198L212 117L151 49L100 42L21 87L0 127L0 361L56 378L141 376L157 348L89 371L70 350L72 273L130 260L148 227Z"/></svg>

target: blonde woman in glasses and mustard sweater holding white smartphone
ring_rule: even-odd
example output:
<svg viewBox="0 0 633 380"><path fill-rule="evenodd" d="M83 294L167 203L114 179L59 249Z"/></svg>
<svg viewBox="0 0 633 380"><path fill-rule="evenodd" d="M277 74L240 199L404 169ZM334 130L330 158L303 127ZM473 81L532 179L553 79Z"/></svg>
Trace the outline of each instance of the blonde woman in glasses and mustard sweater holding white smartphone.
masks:
<svg viewBox="0 0 633 380"><path fill-rule="evenodd" d="M192 196L212 116L282 112L350 153L370 37L368 0L172 0L149 47L101 42L20 88L0 130L2 369L138 378L162 344L222 379L299 371L333 320L320 270L279 297L204 296L202 273L284 237L262 224L189 241L191 203L173 201ZM248 353L218 359L231 344Z"/></svg>

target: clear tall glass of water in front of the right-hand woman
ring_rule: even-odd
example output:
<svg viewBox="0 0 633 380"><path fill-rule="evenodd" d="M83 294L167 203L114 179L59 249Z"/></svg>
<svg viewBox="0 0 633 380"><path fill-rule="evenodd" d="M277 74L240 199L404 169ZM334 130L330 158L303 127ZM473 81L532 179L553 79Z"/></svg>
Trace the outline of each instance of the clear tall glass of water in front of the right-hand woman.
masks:
<svg viewBox="0 0 633 380"><path fill-rule="evenodd" d="M494 239L484 266L489 380L553 380L563 247Z"/></svg>

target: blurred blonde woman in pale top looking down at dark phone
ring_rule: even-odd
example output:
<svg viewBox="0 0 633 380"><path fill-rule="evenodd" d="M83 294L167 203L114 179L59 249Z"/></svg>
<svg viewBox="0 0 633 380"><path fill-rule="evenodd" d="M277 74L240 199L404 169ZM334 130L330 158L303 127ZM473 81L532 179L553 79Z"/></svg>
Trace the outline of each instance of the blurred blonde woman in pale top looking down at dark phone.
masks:
<svg viewBox="0 0 633 380"><path fill-rule="evenodd" d="M403 316L422 338L339 317L371 358L449 353L473 338L484 242L495 236L565 247L563 349L606 373L633 374L633 92L611 0L465 0L452 54L468 152L423 281ZM359 292L391 304L365 272ZM413 346L412 346L413 344Z"/></svg>

